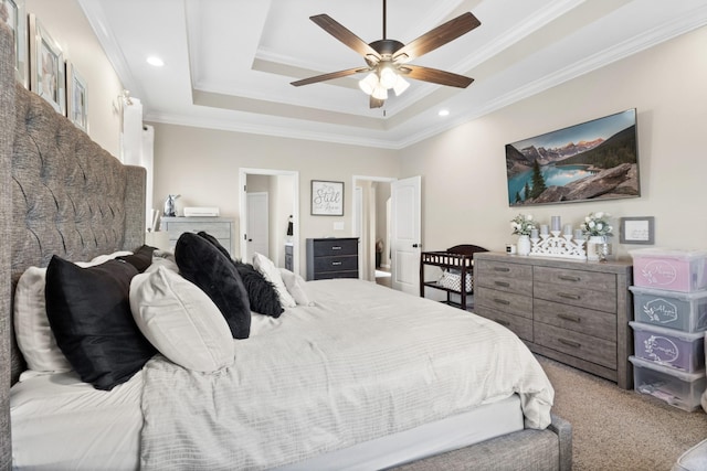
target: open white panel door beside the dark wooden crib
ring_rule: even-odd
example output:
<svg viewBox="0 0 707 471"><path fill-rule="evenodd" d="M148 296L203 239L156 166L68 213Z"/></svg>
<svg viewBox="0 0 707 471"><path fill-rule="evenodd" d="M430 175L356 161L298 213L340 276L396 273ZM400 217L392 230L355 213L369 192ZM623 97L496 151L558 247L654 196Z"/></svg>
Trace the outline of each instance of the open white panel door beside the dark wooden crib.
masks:
<svg viewBox="0 0 707 471"><path fill-rule="evenodd" d="M422 178L392 182L390 200L392 288L418 296L422 249Z"/></svg>

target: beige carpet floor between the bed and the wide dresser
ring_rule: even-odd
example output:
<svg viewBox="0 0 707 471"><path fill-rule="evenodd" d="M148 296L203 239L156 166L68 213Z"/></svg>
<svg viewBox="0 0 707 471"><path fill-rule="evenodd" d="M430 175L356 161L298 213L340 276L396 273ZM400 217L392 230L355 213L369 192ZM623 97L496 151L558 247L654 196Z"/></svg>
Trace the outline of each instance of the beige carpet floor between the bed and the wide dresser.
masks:
<svg viewBox="0 0 707 471"><path fill-rule="evenodd" d="M669 471L707 438L707 415L538 356L552 386L552 411L572 424L574 471Z"/></svg>

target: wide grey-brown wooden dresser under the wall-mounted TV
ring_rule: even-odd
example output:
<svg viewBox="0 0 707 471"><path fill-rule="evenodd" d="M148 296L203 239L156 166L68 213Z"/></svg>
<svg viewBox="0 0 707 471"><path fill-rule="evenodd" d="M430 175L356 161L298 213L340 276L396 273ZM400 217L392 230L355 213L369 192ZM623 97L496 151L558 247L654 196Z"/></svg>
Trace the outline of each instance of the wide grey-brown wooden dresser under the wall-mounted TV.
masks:
<svg viewBox="0 0 707 471"><path fill-rule="evenodd" d="M474 255L474 312L532 352L633 387L631 263Z"/></svg>

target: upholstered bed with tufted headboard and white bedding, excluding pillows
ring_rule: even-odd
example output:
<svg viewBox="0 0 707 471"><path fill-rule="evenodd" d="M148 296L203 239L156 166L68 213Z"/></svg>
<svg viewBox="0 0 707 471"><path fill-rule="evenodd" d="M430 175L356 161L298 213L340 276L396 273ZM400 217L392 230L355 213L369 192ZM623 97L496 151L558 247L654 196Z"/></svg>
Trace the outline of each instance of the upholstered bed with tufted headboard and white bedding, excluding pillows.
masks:
<svg viewBox="0 0 707 471"><path fill-rule="evenodd" d="M551 386L517 338L473 314L360 280L306 282L300 288L309 301L279 317L249 311L247 339L229 339L236 361L217 374L194 373L160 354L109 390L71 371L28 372L13 333L20 277L48 267L54 255L87 261L141 247L145 171L120 164L17 85L11 44L0 26L3 469L571 469L571 427L549 415ZM169 265L169 254L161 257ZM162 264L155 260L151 266ZM383 341L383 327L400 338ZM513 353L492 352L489 344ZM457 353L497 364L461 367ZM321 366L319 356L334 362ZM404 370L415 364L424 367ZM372 413L362 397L382 386L367 383L366 365L392 385L371 396ZM452 382L466 370L476 376ZM498 383L497 372L516 379ZM471 387L479 377L492 386L484 397ZM294 422L293 415L310 421ZM234 448L239 427L235 441L244 443ZM86 457L72 448L77 441ZM32 462L38 449L46 454Z"/></svg>

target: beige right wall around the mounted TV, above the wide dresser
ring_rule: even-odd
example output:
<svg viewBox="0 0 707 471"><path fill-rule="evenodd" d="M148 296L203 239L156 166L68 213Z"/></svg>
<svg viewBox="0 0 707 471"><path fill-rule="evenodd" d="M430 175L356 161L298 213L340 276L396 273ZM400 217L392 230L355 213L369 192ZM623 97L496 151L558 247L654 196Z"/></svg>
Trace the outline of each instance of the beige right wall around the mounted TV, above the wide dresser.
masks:
<svg viewBox="0 0 707 471"><path fill-rule="evenodd" d="M519 212L579 225L593 211L655 216L656 246L706 248L707 28L609 65L401 152L401 176L421 174L423 240L436 250L515 243ZM509 207L504 146L629 108L637 109L640 199ZM616 247L620 256L626 249Z"/></svg>

